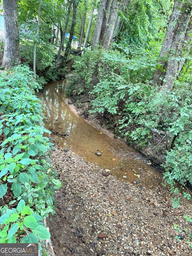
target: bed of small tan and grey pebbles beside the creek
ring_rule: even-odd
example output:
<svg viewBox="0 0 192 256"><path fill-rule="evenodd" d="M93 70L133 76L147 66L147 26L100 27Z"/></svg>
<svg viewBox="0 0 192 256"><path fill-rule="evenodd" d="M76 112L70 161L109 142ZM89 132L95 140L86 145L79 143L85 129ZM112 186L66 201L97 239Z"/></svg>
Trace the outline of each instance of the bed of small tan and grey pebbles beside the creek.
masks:
<svg viewBox="0 0 192 256"><path fill-rule="evenodd" d="M184 220L191 214L188 202L174 210L162 185L150 189L118 180L69 149L56 148L51 159L63 182L49 223L56 256L191 255L184 230L190 228ZM180 242L174 224L182 230Z"/></svg>

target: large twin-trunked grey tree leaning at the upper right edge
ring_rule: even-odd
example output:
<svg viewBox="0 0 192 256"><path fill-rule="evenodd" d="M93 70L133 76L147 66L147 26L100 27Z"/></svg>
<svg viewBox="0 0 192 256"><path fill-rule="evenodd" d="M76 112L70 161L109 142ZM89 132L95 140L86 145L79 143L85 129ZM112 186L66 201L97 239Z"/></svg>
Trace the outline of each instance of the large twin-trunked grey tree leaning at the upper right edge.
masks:
<svg viewBox="0 0 192 256"><path fill-rule="evenodd" d="M172 90L174 86L174 79L177 77L179 69L178 58L180 58L184 46L191 14L192 2L190 0L188 2L175 0L160 52L161 68L156 69L153 77L153 82L161 86L160 92Z"/></svg>

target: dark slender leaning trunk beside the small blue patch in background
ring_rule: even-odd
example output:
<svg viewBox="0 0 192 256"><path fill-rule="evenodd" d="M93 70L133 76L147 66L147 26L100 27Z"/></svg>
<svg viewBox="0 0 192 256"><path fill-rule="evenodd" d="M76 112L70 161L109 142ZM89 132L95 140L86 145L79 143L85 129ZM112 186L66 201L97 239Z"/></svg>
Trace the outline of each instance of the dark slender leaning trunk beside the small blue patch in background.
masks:
<svg viewBox="0 0 192 256"><path fill-rule="evenodd" d="M74 0L74 2L73 2L73 17L72 17L72 23L71 23L71 28L70 28L70 36L69 36L69 40L67 42L67 46L65 49L64 63L66 63L67 57L70 54L70 50L71 50L71 43L72 43L72 39L73 39L73 35L74 35L74 28L75 28L75 22L76 22L77 5L78 4L77 4L76 0Z"/></svg>

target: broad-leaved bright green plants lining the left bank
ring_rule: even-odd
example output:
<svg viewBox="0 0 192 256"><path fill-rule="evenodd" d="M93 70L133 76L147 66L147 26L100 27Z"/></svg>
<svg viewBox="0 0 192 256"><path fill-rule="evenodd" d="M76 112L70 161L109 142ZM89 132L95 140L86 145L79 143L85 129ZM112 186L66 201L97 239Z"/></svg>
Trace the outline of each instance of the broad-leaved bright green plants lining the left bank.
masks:
<svg viewBox="0 0 192 256"><path fill-rule="evenodd" d="M13 192L9 204L0 207L1 243L36 243L50 237L42 220L54 213L54 191L62 184L49 163L53 144L44 136L50 132L34 95L39 88L26 66L1 73L0 197Z"/></svg>

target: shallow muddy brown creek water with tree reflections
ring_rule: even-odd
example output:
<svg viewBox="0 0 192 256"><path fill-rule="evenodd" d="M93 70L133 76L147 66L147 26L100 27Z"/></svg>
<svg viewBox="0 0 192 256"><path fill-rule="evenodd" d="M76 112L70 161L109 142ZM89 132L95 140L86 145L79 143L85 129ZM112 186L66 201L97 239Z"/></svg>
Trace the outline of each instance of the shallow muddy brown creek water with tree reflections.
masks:
<svg viewBox="0 0 192 256"><path fill-rule="evenodd" d="M162 174L148 164L140 153L120 140L97 130L66 103L66 90L70 78L44 86L38 97L44 102L43 108L47 129L59 147L70 146L71 150L88 162L100 165L107 172L128 182L145 181L150 187L160 184ZM61 136L60 134L68 134ZM102 155L97 156L95 152Z"/></svg>

